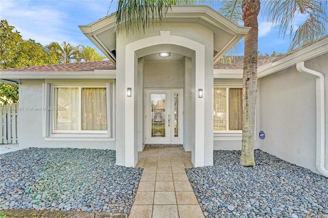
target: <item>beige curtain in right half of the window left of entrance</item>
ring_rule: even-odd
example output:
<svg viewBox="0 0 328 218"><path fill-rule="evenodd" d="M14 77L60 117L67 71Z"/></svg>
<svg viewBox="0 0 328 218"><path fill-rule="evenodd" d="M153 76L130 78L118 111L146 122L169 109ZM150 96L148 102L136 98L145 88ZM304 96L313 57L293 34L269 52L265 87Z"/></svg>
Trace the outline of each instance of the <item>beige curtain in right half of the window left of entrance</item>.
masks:
<svg viewBox="0 0 328 218"><path fill-rule="evenodd" d="M106 88L83 88L81 130L107 130Z"/></svg>

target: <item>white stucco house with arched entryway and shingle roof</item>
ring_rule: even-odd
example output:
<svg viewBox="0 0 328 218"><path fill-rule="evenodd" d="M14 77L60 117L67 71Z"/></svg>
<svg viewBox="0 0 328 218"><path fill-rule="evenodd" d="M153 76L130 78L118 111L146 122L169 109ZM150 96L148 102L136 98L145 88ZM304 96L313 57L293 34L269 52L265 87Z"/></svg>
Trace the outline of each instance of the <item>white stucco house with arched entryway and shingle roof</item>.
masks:
<svg viewBox="0 0 328 218"><path fill-rule="evenodd" d="M20 149L113 149L118 165L133 167L145 146L183 146L198 167L213 165L215 149L241 148L242 57L217 61L249 28L208 6L174 6L145 34L117 32L115 14L80 29L109 61L1 71L20 84ZM259 57L256 107L255 148L322 174L327 60L327 37L278 59ZM323 74L317 85L299 73L306 68Z"/></svg>

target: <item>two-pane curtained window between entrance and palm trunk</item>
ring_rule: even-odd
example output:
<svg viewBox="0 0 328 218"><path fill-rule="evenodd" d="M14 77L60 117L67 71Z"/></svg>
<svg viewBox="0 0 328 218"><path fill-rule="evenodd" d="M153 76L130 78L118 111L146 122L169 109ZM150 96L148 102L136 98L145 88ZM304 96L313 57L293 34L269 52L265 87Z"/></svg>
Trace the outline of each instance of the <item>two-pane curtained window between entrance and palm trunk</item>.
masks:
<svg viewBox="0 0 328 218"><path fill-rule="evenodd" d="M242 89L214 88L213 130L242 129Z"/></svg>

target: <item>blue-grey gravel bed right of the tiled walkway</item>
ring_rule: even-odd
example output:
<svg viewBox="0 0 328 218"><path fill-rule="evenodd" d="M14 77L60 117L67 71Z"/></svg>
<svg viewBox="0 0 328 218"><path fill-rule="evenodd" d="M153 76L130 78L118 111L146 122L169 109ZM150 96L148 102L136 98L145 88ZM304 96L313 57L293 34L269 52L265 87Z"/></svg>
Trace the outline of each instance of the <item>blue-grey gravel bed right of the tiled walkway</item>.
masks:
<svg viewBox="0 0 328 218"><path fill-rule="evenodd" d="M328 179L261 150L255 167L240 151L214 151L213 167L186 169L206 217L328 217Z"/></svg>

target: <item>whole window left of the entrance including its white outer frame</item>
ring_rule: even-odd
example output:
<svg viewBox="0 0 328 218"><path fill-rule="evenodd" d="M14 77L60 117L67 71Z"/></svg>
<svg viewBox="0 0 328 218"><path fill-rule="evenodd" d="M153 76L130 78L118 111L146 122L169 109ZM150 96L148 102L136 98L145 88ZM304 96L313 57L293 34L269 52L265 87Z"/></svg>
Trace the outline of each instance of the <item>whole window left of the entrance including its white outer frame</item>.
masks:
<svg viewBox="0 0 328 218"><path fill-rule="evenodd" d="M45 137L110 137L111 83L49 84ZM48 104L47 104L48 103ZM47 114L48 113L48 114Z"/></svg>

